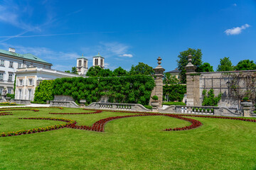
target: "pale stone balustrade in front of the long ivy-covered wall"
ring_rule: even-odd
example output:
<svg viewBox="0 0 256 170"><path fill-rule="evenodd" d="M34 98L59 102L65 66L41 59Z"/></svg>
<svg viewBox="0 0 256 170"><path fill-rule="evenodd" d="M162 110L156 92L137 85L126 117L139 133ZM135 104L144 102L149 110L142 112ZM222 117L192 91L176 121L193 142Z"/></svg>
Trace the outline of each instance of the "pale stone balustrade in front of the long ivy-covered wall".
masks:
<svg viewBox="0 0 256 170"><path fill-rule="evenodd" d="M103 109L103 110L114 110L114 111L151 111L141 104L134 103L100 103L93 102L89 106L85 106L85 108L95 108L95 109Z"/></svg>

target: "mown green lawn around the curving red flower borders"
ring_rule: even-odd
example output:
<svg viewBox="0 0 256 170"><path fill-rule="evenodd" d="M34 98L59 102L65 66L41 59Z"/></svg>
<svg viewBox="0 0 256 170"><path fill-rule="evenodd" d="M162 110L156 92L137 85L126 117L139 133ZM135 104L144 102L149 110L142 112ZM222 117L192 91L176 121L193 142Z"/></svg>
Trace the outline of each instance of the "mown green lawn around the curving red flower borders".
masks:
<svg viewBox="0 0 256 170"><path fill-rule="evenodd" d="M18 118L68 118L78 125L92 125L102 118L134 114L50 115L49 112L93 111L38 109L39 112L11 111L14 115L0 115L0 133L63 123ZM0 137L0 169L256 169L256 123L193 119L203 125L166 132L166 128L191 123L166 116L145 116L112 120L105 132L63 128Z"/></svg>

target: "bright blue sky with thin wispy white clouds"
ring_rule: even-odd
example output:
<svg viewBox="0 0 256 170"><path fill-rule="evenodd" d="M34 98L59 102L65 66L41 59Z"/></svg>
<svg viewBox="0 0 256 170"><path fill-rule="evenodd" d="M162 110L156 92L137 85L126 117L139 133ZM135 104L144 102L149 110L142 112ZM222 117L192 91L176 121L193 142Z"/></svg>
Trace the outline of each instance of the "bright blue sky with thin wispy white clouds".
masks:
<svg viewBox="0 0 256 170"><path fill-rule="evenodd" d="M16 48L68 70L82 54L129 70L144 62L166 71L178 53L200 48L216 69L220 58L256 62L256 1L0 1L0 49Z"/></svg>

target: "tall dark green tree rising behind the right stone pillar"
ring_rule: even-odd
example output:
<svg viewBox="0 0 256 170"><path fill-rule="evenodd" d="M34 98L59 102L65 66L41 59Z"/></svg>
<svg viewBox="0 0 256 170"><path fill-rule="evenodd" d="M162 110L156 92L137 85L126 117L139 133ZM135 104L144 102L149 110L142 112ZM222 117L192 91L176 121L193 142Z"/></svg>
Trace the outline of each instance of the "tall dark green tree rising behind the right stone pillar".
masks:
<svg viewBox="0 0 256 170"><path fill-rule="evenodd" d="M188 48L188 50L180 52L178 55L178 70L181 71L181 83L185 84L186 83L186 65L188 64L188 55L191 54L192 57L192 64L196 66L196 72L198 72L198 67L201 66L202 64L202 52L201 49L192 49Z"/></svg>

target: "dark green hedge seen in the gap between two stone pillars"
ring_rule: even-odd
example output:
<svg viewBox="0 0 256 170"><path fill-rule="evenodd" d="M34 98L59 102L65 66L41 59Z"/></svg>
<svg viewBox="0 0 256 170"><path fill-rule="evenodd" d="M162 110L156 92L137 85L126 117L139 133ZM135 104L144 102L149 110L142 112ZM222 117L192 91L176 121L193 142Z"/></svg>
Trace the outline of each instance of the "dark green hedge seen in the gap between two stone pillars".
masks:
<svg viewBox="0 0 256 170"><path fill-rule="evenodd" d="M163 96L169 95L170 101L182 101L186 94L186 85L171 84L163 86Z"/></svg>

